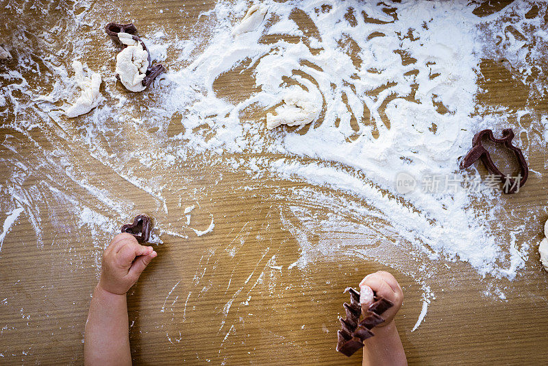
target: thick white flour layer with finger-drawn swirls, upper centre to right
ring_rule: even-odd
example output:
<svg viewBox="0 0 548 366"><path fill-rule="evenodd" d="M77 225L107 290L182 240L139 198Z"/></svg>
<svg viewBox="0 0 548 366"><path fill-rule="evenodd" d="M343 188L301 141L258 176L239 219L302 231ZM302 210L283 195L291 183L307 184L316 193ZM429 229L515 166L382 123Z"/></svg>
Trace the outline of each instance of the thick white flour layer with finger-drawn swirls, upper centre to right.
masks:
<svg viewBox="0 0 548 366"><path fill-rule="evenodd" d="M381 239L413 247L429 260L462 260L481 276L514 278L528 246L499 228L498 193L458 185L401 195L395 178L400 172L412 172L419 183L432 176L464 178L458 157L473 134L503 119L477 111L480 64L485 49L497 47L483 38L484 29L500 27L508 14L527 5L509 5L486 18L473 14L465 1L261 5L269 15L264 30L242 38L232 37L226 16L240 10L218 3L208 12L216 32L207 46L187 67L170 71L175 87L166 105L185 111L185 132L177 138L195 151L283 154L286 158L256 164L253 173L360 197L364 217L379 219L360 228L362 236L381 229L386 232ZM295 21L297 12L310 19L306 26ZM303 36L264 42L271 28ZM232 104L217 97L214 82L235 66L252 71L258 92ZM305 102L310 103L304 107ZM277 105L277 116L266 114L267 128L308 123L306 133L264 132L256 120L240 119L247 108ZM473 204L477 199L484 202L481 208ZM310 225L310 217L300 215ZM510 243L510 252L500 243ZM329 256L327 245L316 247ZM337 252L332 247L330 254ZM306 253L312 254L303 250L301 256Z"/></svg>

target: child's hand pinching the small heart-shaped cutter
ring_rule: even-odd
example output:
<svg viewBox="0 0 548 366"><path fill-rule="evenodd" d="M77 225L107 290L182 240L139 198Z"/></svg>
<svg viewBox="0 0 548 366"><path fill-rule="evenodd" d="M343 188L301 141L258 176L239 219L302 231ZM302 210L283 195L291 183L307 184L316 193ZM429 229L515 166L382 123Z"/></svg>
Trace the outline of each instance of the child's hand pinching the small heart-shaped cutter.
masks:
<svg viewBox="0 0 548 366"><path fill-rule="evenodd" d="M99 286L110 293L125 295L157 255L152 247L139 245L131 234L114 236L103 252Z"/></svg>

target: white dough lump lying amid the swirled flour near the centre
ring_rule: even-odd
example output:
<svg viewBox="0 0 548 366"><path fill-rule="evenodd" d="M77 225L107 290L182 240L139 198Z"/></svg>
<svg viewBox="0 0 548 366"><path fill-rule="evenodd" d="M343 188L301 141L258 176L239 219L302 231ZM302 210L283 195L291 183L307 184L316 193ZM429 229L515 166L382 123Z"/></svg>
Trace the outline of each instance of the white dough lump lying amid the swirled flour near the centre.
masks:
<svg viewBox="0 0 548 366"><path fill-rule="evenodd" d="M279 125L306 125L315 121L321 112L321 104L304 90L292 90L284 97L284 104L276 108L276 114L266 114L266 128Z"/></svg>

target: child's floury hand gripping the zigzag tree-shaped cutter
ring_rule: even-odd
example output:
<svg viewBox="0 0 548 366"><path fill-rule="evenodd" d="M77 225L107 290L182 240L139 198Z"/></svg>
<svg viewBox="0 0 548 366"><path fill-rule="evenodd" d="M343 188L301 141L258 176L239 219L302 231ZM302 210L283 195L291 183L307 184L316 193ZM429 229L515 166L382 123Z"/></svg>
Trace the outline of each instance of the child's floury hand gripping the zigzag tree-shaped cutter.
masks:
<svg viewBox="0 0 548 366"><path fill-rule="evenodd" d="M378 271L365 276L362 282L360 282L362 312L373 303L373 291L371 290L375 291L377 296L382 296L394 304L394 306L382 313L382 317L384 317L385 321L377 327L387 326L393 321L399 308L401 308L401 303L403 302L403 291L401 290L401 286L399 286L399 283L394 276L385 271ZM364 295L366 296L362 299Z"/></svg>

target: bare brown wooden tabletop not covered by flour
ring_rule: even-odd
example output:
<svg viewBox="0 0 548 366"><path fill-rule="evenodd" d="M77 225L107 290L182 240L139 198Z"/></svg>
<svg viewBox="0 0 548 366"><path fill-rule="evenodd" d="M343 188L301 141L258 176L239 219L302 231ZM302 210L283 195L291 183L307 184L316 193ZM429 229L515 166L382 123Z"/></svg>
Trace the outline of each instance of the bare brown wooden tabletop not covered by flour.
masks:
<svg viewBox="0 0 548 366"><path fill-rule="evenodd" d="M200 12L212 8L210 0L131 3L137 6L128 10L127 19L147 30L157 23L169 29L193 24ZM101 14L103 4L92 4L95 14ZM104 6L106 23L111 19ZM160 8L166 10L160 14ZM183 8L185 16L178 12ZM0 15L0 20L7 21L0 35L6 36L9 25L15 22L14 14L10 10ZM32 16L27 14L27 18ZM55 24L53 18L44 27ZM100 58L101 53L88 60L91 69L99 69ZM547 101L531 99L529 86L514 80L499 60L484 60L481 73L484 77L479 78L479 84L484 92L478 95L479 103L514 109L527 105L537 113L545 112ZM230 77L222 82L220 88L235 95L249 94L253 88L249 82L236 83ZM40 77L32 78L32 83L38 85ZM140 100L137 98L134 100ZM260 118L264 119L264 114ZM90 207L107 217L111 214L108 207L66 179L62 169L51 168L55 162L42 160L41 151L66 145L71 151L71 164L86 173L88 183L103 186L116 199L131 202L132 212L155 215L158 200L114 169L90 158L84 145L60 138L53 127L21 134L5 127L13 119L10 116L8 121L0 122L0 177L12 174L16 162L29 167L22 173L21 187L38 187L36 191L29 188L32 195L27 198L40 211L42 237L38 241L29 218L23 214L3 242L0 363L81 364L84 326L90 294L97 284L99 258L116 228L103 232L100 227L90 230L76 224L72 203L55 199L46 186L88 200ZM521 123L527 123L527 118ZM69 130L81 133L77 125L69 126ZM135 146L138 144L136 138ZM480 278L464 263L449 263L447 267L443 261L434 263L428 284L436 299L414 332L423 306L423 289L406 274L412 271L397 271L374 258L345 256L336 261L318 256L308 265L288 268L299 259L299 241L290 230L288 207L312 206L292 202L290 195L280 199L272 193L307 184L250 178L243 171L223 169L199 158L190 158L171 171L152 169L150 174L157 175L166 187L163 192L169 208L169 215L157 220L177 225L181 219L186 220L184 208L195 204L192 225L206 228L214 217L215 226L213 232L203 236L190 235L190 229L188 238L162 234L163 243L155 247L158 258L127 297L134 362L358 365L360 352L346 358L334 350L338 317L343 315L342 304L348 299L343 289L356 286L366 273L385 269L394 273L404 289L406 298L396 322L411 365L545 365L548 276L538 263L536 246L547 217L530 221L525 218L532 208L546 204L546 158L545 151L530 150L530 167L543 177L534 175L523 191L506 197L505 207L515 208L519 216L516 220L527 223L520 240L531 243L530 258L519 276L513 281ZM48 172L53 173L46 175ZM2 178L0 183L5 186L13 178ZM329 211L313 208L320 214ZM0 222L6 216L0 212ZM290 224L282 223L281 217ZM308 239L317 243L319 234L316 236ZM364 240L351 235L341 239L340 233L329 230L321 232L321 239ZM408 260L404 253L395 252L394 256L395 261ZM408 266L416 263L410 261ZM504 290L506 300L483 295L493 286Z"/></svg>

